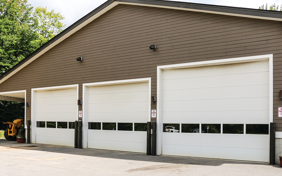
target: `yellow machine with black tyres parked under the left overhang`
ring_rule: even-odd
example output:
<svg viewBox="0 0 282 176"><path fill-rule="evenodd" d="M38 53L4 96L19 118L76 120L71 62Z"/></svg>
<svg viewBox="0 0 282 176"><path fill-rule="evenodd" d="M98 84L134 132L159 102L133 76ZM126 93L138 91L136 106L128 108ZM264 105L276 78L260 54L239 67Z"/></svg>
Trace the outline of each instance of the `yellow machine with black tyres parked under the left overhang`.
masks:
<svg viewBox="0 0 282 176"><path fill-rule="evenodd" d="M24 119L16 119L13 122L4 122L8 128L4 132L4 137L8 141L16 141L18 138L25 138Z"/></svg>

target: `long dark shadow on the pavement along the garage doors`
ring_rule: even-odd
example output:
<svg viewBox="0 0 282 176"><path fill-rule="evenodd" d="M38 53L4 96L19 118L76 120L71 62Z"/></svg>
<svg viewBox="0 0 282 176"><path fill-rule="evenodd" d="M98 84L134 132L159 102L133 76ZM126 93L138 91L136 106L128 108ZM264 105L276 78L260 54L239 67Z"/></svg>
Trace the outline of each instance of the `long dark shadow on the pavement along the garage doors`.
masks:
<svg viewBox="0 0 282 176"><path fill-rule="evenodd" d="M174 163L174 164L190 164L190 165L204 165L204 166L221 166L223 164L269 165L268 163L236 161L236 160L191 158L191 157L177 157L177 156L165 156L165 155L151 156L151 155L132 153L132 152L117 152L117 151L99 150L99 149L75 149L73 147L66 147L66 146L53 146L53 145L45 145L45 144L37 144L37 143L35 144L17 143L17 141L7 141L6 139L0 139L0 147L10 147L15 149L35 150L35 151L44 151L44 152L57 152L57 153L64 153L70 155L113 158L113 159L121 159L121 160L137 160L137 161ZM280 168L280 166L278 165L274 165L273 167Z"/></svg>

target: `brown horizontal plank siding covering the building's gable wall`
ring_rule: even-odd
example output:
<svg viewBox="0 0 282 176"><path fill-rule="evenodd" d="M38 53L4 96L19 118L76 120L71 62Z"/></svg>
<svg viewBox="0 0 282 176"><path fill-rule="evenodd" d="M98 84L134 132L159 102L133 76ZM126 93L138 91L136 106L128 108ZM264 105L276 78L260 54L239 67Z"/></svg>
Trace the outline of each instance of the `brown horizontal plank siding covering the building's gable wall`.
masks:
<svg viewBox="0 0 282 176"><path fill-rule="evenodd" d="M118 5L4 81L0 92L27 90L31 102L32 88L79 84L82 99L83 83L151 77L156 96L157 66L273 54L273 119L282 131L281 29L278 21Z"/></svg>

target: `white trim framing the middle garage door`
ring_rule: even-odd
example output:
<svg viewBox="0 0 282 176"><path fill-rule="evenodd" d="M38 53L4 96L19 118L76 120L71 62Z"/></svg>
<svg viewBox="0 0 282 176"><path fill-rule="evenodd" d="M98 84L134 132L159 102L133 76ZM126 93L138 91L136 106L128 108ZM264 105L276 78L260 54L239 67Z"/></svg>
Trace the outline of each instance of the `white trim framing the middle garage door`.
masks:
<svg viewBox="0 0 282 176"><path fill-rule="evenodd" d="M127 80L118 80L118 81L105 81L105 82L97 82L97 83L86 83L82 86L82 148L87 148L88 144L88 118L87 118L87 95L88 95L88 87L93 86L106 86L106 85L116 85L116 84L130 84L130 83L141 83L148 82L149 84L149 112L148 112L148 121L151 121L151 78L138 78L138 79L127 79Z"/></svg>

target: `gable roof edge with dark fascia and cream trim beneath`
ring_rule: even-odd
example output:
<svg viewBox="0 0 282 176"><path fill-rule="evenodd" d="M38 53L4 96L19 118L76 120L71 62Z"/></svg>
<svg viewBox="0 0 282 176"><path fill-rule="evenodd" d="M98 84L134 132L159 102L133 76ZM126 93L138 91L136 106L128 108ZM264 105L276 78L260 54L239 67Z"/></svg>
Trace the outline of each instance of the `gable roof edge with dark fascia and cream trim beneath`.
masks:
<svg viewBox="0 0 282 176"><path fill-rule="evenodd" d="M140 5L149 7L160 7L169 8L177 10L187 10L196 11L204 13L214 13L229 16L240 16L246 18L257 18L266 20L282 21L282 12L273 10L259 10L241 7L228 7L228 6L218 6L218 5L208 5L208 4L197 4L189 2L178 2L178 1L164 1L164 0L108 0L92 12L88 13L86 16L82 17L70 27L56 35L54 38L43 44L32 54L24 58L10 70L5 72L0 76L0 84L14 75L16 72L24 68L26 65L34 61L36 58L50 50L52 47L95 20L102 14L106 13L108 10L112 9L118 4L128 4L128 5Z"/></svg>

